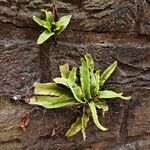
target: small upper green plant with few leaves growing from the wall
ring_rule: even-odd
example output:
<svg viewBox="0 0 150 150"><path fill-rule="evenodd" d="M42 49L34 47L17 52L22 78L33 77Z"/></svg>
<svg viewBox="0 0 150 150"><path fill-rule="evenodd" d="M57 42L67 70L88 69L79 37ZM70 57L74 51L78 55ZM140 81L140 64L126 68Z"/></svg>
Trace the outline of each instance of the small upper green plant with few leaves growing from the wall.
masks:
<svg viewBox="0 0 150 150"><path fill-rule="evenodd" d="M45 13L46 20L42 20L36 16L33 16L33 20L39 25L42 26L45 30L39 36L37 43L42 44L50 37L54 36L55 34L60 34L64 29L68 26L71 15L63 16L58 21L55 21L53 13L51 11L47 11L42 9L42 12Z"/></svg>

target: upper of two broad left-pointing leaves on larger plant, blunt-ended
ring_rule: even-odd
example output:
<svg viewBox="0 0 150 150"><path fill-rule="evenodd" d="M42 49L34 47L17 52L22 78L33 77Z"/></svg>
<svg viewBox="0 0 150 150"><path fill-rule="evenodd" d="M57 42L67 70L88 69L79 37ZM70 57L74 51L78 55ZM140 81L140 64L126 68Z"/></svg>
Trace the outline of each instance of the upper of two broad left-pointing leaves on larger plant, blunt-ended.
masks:
<svg viewBox="0 0 150 150"><path fill-rule="evenodd" d="M59 87L55 83L35 83L34 94L36 95L53 95L53 96L71 96L69 90Z"/></svg>

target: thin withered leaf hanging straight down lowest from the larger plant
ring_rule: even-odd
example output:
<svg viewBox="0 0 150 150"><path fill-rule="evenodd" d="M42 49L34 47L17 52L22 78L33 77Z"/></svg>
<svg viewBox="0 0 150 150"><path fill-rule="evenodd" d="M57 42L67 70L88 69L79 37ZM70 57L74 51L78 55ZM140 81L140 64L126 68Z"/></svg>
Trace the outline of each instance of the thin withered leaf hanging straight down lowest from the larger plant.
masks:
<svg viewBox="0 0 150 150"><path fill-rule="evenodd" d="M90 119L90 110L89 108L86 108L85 106L83 107L83 114L82 114L82 135L83 139L85 140L86 135L85 135L85 128L87 127L87 123Z"/></svg>

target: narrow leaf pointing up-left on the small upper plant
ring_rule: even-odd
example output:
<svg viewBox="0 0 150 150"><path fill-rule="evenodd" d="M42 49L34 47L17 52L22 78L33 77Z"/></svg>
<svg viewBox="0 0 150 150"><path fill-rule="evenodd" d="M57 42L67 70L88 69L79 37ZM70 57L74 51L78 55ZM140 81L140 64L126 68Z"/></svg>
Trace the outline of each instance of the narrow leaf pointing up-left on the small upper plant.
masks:
<svg viewBox="0 0 150 150"><path fill-rule="evenodd" d="M51 24L48 21L44 21L36 16L33 16L33 20L40 26L46 28L48 31L51 31Z"/></svg>

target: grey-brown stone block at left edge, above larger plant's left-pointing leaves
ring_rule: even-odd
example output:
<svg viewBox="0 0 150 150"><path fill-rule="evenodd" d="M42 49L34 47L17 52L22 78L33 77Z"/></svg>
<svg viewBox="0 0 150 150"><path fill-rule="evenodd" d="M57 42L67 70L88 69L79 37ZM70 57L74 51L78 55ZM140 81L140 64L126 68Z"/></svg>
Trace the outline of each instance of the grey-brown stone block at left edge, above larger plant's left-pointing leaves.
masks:
<svg viewBox="0 0 150 150"><path fill-rule="evenodd" d="M39 53L28 34L21 37L21 30L12 27L9 33L7 29L2 27L0 38L0 95L23 95L39 81Z"/></svg>

